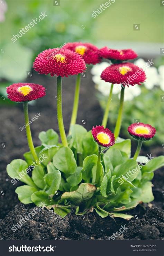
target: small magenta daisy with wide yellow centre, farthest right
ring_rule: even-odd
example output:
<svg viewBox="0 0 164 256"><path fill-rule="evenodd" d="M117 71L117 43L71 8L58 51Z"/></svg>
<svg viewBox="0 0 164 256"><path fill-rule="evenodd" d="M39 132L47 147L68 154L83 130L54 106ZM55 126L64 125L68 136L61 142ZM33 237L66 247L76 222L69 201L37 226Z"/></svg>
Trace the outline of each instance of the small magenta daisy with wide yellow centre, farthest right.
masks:
<svg viewBox="0 0 164 256"><path fill-rule="evenodd" d="M137 140L151 140L156 129L149 124L134 123L128 127L128 133Z"/></svg>

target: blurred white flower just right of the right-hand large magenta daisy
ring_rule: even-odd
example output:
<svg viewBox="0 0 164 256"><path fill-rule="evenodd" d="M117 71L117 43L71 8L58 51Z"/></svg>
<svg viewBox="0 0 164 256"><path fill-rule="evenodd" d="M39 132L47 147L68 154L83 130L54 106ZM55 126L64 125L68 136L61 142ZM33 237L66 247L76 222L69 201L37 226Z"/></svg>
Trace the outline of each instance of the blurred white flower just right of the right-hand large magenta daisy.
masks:
<svg viewBox="0 0 164 256"><path fill-rule="evenodd" d="M144 85L147 89L151 90L155 85L159 85L159 75L155 67L148 67L146 65L149 62L145 62L143 59L138 59L134 62L139 68L142 68L146 74L146 80Z"/></svg>

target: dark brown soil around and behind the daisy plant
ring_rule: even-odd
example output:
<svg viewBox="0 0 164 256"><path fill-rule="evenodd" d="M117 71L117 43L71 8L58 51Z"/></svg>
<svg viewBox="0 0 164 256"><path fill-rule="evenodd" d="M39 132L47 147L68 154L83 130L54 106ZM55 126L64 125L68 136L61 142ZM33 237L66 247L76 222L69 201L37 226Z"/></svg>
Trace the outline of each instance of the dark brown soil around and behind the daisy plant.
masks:
<svg viewBox="0 0 164 256"><path fill-rule="evenodd" d="M35 146L40 145L38 134L40 131L46 131L53 128L58 132L56 122L56 81L55 78L38 76L34 73L27 82L34 82L44 85L47 88L46 96L36 101L35 105L29 105L29 119L40 113L40 117L31 124L31 132ZM71 118L73 91L75 77L63 79L63 119L65 130L68 132ZM92 126L100 124L102 120L102 111L99 103L94 96L95 90L89 72L87 78L82 78L81 97L79 104L77 123L84 125L87 130ZM54 118L53 118L54 117ZM84 122L82 122L84 120ZM101 219L95 212L88 215L76 216L69 214L62 219L53 211L38 211L34 217L22 224L16 232L13 232L12 225L19 223L20 218L28 215L33 209L38 209L34 205L23 205L19 203L15 189L21 182L12 185L11 179L7 175L6 166L13 159L23 159L23 153L28 151L25 130L20 131L24 125L23 106L1 107L0 113L1 139L5 144L0 148L0 239L77 239L77 240L113 240L113 233L118 232L121 225L127 228L122 235L115 239L162 239L163 233L163 172L157 170L153 179L153 194L155 200L152 204L137 206L136 209L128 213L134 215L134 219L125 221L119 218L113 220L110 217ZM143 148L142 155L153 153L152 156L162 155L162 147Z"/></svg>

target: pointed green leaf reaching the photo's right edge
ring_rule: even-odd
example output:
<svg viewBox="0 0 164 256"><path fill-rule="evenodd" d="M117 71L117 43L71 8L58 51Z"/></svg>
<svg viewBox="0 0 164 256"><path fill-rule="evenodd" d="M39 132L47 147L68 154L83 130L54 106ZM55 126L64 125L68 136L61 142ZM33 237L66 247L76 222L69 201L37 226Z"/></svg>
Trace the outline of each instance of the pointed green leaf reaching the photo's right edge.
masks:
<svg viewBox="0 0 164 256"><path fill-rule="evenodd" d="M164 156L159 156L150 160L145 166L142 168L142 172L146 171L151 173L159 168L164 166Z"/></svg>

